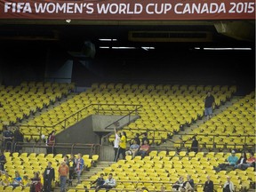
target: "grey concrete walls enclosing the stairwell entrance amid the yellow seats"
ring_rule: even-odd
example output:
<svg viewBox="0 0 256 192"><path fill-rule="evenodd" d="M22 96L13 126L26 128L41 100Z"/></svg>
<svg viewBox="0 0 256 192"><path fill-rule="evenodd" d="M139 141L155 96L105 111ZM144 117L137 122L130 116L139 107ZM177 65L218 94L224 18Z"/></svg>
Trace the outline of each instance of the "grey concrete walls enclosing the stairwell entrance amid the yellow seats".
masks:
<svg viewBox="0 0 256 192"><path fill-rule="evenodd" d="M88 116L84 120L74 124L68 129L60 132L56 135L56 144L58 143L80 143L80 144L100 144L101 137L113 132L112 129L106 130L105 127L108 124L114 123L116 120L122 116ZM139 116L128 116L120 120L120 126L128 124L131 121L134 121ZM129 121L130 120L130 121ZM100 146L100 160L104 161L113 161L114 160L114 149L112 144L106 142L106 145ZM56 148L56 153L70 154L70 148ZM89 148L75 148L73 154L82 153L90 154L91 150Z"/></svg>

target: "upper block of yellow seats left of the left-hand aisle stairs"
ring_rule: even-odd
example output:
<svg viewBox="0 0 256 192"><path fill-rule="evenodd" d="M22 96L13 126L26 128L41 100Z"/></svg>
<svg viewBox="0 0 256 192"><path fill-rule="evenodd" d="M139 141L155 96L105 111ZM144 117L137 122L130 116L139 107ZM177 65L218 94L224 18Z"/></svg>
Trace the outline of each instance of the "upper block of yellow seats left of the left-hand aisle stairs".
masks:
<svg viewBox="0 0 256 192"><path fill-rule="evenodd" d="M47 108L50 104L68 95L71 86L58 84L56 87L29 87L28 84L19 86L0 86L0 131L4 125L16 124L24 117Z"/></svg>

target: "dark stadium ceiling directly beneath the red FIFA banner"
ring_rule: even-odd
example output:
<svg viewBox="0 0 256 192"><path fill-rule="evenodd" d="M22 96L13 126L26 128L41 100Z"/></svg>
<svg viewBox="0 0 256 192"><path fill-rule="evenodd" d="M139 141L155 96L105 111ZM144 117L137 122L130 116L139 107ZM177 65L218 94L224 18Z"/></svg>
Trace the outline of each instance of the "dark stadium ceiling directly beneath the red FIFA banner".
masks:
<svg viewBox="0 0 256 192"><path fill-rule="evenodd" d="M99 39L115 39L100 41ZM74 46L255 47L255 20L79 21L0 20L0 41L53 41Z"/></svg>

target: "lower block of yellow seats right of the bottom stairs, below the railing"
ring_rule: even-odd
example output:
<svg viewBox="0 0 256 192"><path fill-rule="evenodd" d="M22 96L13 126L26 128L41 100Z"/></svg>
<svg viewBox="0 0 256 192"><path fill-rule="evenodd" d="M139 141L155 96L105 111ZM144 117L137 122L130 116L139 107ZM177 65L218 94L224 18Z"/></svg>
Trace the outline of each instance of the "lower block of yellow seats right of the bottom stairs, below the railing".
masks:
<svg viewBox="0 0 256 192"><path fill-rule="evenodd" d="M111 164L102 172L93 175L90 180L96 180L100 173L107 176L111 172L117 180L116 188L127 189L130 186L133 186L131 188L137 188L140 184L153 190L159 187L156 186L156 183L152 183L154 181L174 183L180 176L186 176L187 174L190 174L195 183L199 184L197 185L198 188L200 188L200 184L204 184L207 175L211 176L215 184L224 184L227 175L229 175L232 177L236 188L241 188L242 185L248 186L251 182L255 182L253 167L246 171L235 170L217 173L213 170L213 166L224 163L230 154L190 153L190 156L188 156L186 152L176 154L175 151L171 152L171 156L169 154L166 151L159 153L151 151L149 156L143 159L140 156L135 156L133 159L132 156L126 156L126 160L119 160L116 164ZM86 188L91 188L89 181L84 181L83 184ZM167 190L171 190L172 185L169 184L168 186Z"/></svg>

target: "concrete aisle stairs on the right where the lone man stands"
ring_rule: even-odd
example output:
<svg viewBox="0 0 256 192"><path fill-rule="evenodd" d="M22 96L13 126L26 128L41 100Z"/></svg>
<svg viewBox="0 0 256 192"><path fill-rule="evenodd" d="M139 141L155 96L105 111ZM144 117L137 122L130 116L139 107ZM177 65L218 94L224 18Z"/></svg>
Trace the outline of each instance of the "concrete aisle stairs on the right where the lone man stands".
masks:
<svg viewBox="0 0 256 192"><path fill-rule="evenodd" d="M227 109L228 107L230 107L231 105L233 105L234 103L236 103L238 100L240 100L242 97L238 97L238 96L234 96L231 98L231 100L228 100L226 103L224 103L224 105L221 105L220 108L216 108L213 111L213 116L217 116L218 114L220 114L221 112L223 112L225 109ZM180 131L180 134L191 134L192 131L199 127L200 124L204 124L205 121L207 121L206 117L203 117L201 120L196 120L195 124L191 124L189 127L186 126L184 128L184 131ZM173 135L172 139L167 140L165 143L161 144L161 147L167 147L167 148L174 148L174 143L179 142L180 141L180 135ZM180 150L187 150L187 148L180 148Z"/></svg>

